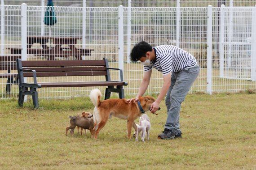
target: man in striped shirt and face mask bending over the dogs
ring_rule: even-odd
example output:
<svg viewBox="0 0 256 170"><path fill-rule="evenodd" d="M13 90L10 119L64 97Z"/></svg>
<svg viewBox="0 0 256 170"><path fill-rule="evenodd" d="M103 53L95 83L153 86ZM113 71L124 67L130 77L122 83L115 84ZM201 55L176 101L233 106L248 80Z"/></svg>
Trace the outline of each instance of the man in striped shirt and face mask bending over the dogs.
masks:
<svg viewBox="0 0 256 170"><path fill-rule="evenodd" d="M159 134L159 139L174 139L181 137L180 110L190 87L199 75L199 64L188 52L172 45L151 47L142 41L137 43L131 51L131 60L140 61L144 66L144 76L136 98L129 102L137 102L145 92L150 82L152 68L163 73L163 87L156 101L151 105L150 112L154 113L159 108L159 103L165 98L167 107L167 120L164 131Z"/></svg>

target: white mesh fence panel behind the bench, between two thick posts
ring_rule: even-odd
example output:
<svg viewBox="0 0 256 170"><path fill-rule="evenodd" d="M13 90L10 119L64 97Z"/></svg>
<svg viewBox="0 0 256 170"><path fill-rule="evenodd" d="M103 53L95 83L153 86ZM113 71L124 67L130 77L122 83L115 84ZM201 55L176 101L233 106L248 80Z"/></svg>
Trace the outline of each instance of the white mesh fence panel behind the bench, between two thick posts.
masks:
<svg viewBox="0 0 256 170"><path fill-rule="evenodd" d="M40 7L28 7L28 35L40 35L41 26L38 11ZM116 64L117 31L118 31L118 9L117 8L66 8L55 7L57 23L54 26L45 26L44 34L58 38L58 42L48 41L48 48L60 48L60 51L71 50L68 55L53 54L54 59L103 59L108 58L111 67L118 67ZM83 16L84 25L83 25ZM31 20L31 22L30 22ZM37 21L37 22L36 22ZM51 30L51 34L49 31ZM84 37L84 42L83 42ZM66 42L67 38L72 38ZM74 39L73 39L74 38ZM79 55L78 49L93 50L90 54ZM46 54L47 57L52 54ZM46 59L45 57L34 56L34 59ZM111 78L116 80L117 72L110 72ZM105 76L76 76L76 77L44 77L38 78L38 82L72 82L72 81L104 81ZM87 96L92 88L44 88L40 89L43 98L55 97L70 98L77 96ZM101 87L100 89L105 89Z"/></svg>

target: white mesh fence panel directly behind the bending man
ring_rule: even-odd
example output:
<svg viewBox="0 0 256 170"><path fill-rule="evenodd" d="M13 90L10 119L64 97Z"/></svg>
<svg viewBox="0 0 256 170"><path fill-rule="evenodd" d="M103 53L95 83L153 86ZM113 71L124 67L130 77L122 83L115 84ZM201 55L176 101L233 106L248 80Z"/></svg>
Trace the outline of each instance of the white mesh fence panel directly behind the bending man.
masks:
<svg viewBox="0 0 256 170"><path fill-rule="evenodd" d="M124 9L128 13L128 8ZM132 8L131 46L146 41L152 46L164 44L176 45L177 8ZM201 66L199 79L191 92L206 92L206 47L207 47L207 8L180 9L180 47L196 57ZM126 32L127 34L127 32ZM130 44L125 44L130 46ZM129 48L128 48L129 49ZM129 51L125 51L127 58ZM132 72L131 72L132 71ZM139 63L130 63L124 67L125 78L131 83L130 93L137 93L143 76L143 68ZM137 75L137 76L136 76ZM148 93L157 93L162 88L162 75L153 70Z"/></svg>

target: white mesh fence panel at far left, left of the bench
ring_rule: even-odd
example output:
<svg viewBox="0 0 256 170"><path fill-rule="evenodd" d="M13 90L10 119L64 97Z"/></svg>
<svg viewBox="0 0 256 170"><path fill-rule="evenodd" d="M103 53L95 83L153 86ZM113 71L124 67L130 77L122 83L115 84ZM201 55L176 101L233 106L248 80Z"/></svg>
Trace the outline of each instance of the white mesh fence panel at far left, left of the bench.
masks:
<svg viewBox="0 0 256 170"><path fill-rule="evenodd" d="M21 6L0 5L0 11L0 60L3 61L0 64L0 98L16 97L18 85L11 84L15 84L18 76L16 64L10 61L15 61L18 55L10 55L9 48L21 46ZM4 62L10 62L9 67L12 69L7 68ZM9 73L12 78L8 78L5 73Z"/></svg>

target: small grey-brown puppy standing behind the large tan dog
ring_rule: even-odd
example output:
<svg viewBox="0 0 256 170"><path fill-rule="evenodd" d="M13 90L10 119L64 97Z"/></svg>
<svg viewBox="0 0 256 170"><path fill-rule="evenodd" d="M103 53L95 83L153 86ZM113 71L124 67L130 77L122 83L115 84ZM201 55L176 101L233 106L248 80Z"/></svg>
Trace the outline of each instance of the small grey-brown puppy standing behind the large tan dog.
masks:
<svg viewBox="0 0 256 170"><path fill-rule="evenodd" d="M84 118L81 116L69 116L70 118L70 126L66 127L66 136L67 136L67 131L71 129L71 135L74 135L74 129L76 126L81 127L83 129L88 129L91 132L91 136L93 134L93 119L91 117L93 116L92 114L89 113L89 118Z"/></svg>

